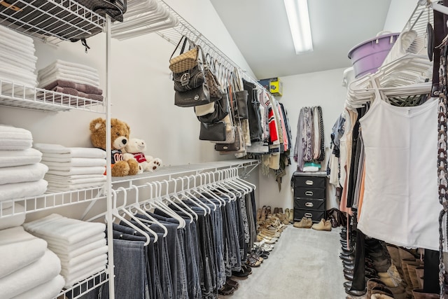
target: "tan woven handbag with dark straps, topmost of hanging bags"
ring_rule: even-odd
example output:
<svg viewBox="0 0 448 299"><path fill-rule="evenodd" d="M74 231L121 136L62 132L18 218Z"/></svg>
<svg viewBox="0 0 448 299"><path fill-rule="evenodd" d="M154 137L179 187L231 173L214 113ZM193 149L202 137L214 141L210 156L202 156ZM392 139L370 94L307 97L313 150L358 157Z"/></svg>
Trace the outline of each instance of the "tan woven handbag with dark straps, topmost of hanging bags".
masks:
<svg viewBox="0 0 448 299"><path fill-rule="evenodd" d="M173 58L174 53L176 53L176 50L179 49L182 41L183 45L181 48L181 54ZM191 49L186 51L187 43L190 44L189 48ZM199 49L200 46L196 46L186 36L182 36L171 57L169 57L169 69L171 69L174 73L182 73L183 71L187 71L188 69L193 69L193 67L197 66Z"/></svg>

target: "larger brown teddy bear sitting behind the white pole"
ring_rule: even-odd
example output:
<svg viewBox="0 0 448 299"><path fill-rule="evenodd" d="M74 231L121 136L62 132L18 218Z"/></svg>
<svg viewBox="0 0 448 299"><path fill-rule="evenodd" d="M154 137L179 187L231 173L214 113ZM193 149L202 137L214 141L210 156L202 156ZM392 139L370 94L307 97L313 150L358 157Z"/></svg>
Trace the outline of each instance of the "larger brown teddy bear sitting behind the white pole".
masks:
<svg viewBox="0 0 448 299"><path fill-rule="evenodd" d="M129 139L130 126L127 123L111 118L112 176L134 175L139 172L139 162L135 159L123 158L122 150ZM97 148L106 150L106 120L97 118L90 122L90 141Z"/></svg>

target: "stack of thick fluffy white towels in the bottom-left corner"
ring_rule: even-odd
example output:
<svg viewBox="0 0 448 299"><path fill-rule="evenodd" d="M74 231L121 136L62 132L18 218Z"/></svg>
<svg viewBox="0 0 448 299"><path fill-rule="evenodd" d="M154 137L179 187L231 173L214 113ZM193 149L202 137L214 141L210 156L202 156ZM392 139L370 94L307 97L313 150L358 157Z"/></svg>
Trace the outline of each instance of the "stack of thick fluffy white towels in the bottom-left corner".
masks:
<svg viewBox="0 0 448 299"><path fill-rule="evenodd" d="M22 226L0 230L0 298L54 298L64 286L60 260Z"/></svg>

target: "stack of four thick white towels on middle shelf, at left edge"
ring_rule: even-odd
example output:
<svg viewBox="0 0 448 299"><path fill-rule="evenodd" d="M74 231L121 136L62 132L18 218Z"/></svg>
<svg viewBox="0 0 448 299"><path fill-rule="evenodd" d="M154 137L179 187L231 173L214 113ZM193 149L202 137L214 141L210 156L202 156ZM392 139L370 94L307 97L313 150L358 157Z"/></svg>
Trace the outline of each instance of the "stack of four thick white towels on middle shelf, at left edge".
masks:
<svg viewBox="0 0 448 299"><path fill-rule="evenodd" d="M0 125L0 141L0 202L45 193L48 167L40 163L42 153L31 148L31 132Z"/></svg>

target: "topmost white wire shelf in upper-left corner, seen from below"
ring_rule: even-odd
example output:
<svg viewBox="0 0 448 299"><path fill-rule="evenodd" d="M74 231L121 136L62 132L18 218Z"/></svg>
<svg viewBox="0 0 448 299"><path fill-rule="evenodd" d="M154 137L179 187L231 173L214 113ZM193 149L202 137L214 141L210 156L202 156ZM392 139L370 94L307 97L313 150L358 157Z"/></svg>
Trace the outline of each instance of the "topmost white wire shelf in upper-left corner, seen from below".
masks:
<svg viewBox="0 0 448 299"><path fill-rule="evenodd" d="M0 25L57 44L104 31L106 19L74 0L3 0Z"/></svg>

